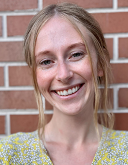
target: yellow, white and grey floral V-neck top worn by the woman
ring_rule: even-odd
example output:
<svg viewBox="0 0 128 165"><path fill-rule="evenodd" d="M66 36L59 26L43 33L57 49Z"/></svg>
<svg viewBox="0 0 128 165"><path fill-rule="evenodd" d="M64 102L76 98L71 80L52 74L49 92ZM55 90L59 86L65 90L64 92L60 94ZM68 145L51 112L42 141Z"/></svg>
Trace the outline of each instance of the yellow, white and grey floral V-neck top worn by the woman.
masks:
<svg viewBox="0 0 128 165"><path fill-rule="evenodd" d="M107 136L106 133L108 132ZM0 165L53 165L47 150L39 146L37 131L17 133L0 141ZM128 132L103 127L92 165L128 164Z"/></svg>

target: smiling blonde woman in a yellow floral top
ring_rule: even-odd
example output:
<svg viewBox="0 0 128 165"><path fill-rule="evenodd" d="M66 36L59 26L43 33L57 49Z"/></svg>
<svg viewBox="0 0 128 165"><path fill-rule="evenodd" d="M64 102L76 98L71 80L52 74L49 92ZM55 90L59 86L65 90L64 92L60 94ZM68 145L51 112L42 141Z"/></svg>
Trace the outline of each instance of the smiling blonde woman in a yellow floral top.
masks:
<svg viewBox="0 0 128 165"><path fill-rule="evenodd" d="M1 164L128 164L128 133L111 130L110 59L94 18L69 3L46 7L29 24L24 54L33 73L38 134L1 140ZM41 95L54 110L47 125Z"/></svg>

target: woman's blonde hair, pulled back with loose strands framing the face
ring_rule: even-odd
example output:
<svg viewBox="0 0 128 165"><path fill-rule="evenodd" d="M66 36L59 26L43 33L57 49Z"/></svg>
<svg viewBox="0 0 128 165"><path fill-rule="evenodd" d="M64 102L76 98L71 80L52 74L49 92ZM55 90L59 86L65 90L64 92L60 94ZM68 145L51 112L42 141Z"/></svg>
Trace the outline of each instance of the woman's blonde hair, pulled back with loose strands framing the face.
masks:
<svg viewBox="0 0 128 165"><path fill-rule="evenodd" d="M31 67L32 69L35 96L36 96L37 106L39 109L39 124L38 124L39 137L41 137L41 135L43 134L45 121L44 121L41 92L39 90L36 79L35 45L41 27L55 15L63 16L73 24L73 26L80 34L81 38L83 39L88 54L90 55L88 45L84 39L82 32L78 28L76 22L82 24L88 30L89 36L93 42L97 54L97 60L98 60L97 68L101 69L103 72L102 77L98 77L98 78L95 77L92 59L90 55L92 75L95 86L95 100L94 100L95 125L97 127L97 124L100 121L100 123L105 127L112 128L114 124L113 114L108 112L108 109L110 109L108 85L111 82L112 76L111 76L109 53L107 50L103 33L97 21L83 8L71 3L60 3L60 4L53 4L47 6L46 8L41 10L37 15L35 15L30 21L30 24L28 26L24 38L25 59L29 67ZM99 86L102 87L99 88ZM98 113L99 109L101 109L102 113ZM43 131L40 134L41 128Z"/></svg>

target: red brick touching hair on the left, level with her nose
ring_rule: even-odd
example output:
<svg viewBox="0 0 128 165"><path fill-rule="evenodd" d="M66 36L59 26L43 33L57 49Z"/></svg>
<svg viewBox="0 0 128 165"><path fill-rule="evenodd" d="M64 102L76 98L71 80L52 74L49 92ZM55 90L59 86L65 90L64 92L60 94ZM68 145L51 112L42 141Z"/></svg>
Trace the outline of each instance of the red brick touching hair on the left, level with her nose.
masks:
<svg viewBox="0 0 128 165"><path fill-rule="evenodd" d="M31 71L28 66L9 67L9 85L27 86L32 85Z"/></svg>

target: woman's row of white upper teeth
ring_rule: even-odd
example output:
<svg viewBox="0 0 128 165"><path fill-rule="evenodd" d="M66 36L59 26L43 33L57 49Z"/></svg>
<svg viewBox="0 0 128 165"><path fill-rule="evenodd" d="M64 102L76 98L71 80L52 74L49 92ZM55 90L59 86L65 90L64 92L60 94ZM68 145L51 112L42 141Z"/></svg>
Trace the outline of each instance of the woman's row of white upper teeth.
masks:
<svg viewBox="0 0 128 165"><path fill-rule="evenodd" d="M67 96L67 95L71 95L73 93L75 93L76 91L79 90L79 86L76 86L72 89L68 89L68 91L64 90L64 91L57 91L57 94L60 95L60 96Z"/></svg>

